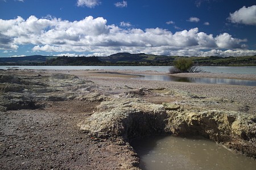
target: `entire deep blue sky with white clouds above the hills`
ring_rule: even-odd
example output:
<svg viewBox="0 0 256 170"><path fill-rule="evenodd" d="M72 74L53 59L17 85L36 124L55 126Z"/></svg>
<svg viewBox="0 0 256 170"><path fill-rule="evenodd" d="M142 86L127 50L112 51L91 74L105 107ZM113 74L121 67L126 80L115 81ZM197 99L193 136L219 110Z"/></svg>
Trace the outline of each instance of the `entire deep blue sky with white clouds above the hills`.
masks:
<svg viewBox="0 0 256 170"><path fill-rule="evenodd" d="M253 56L255 0L0 0L0 57Z"/></svg>

